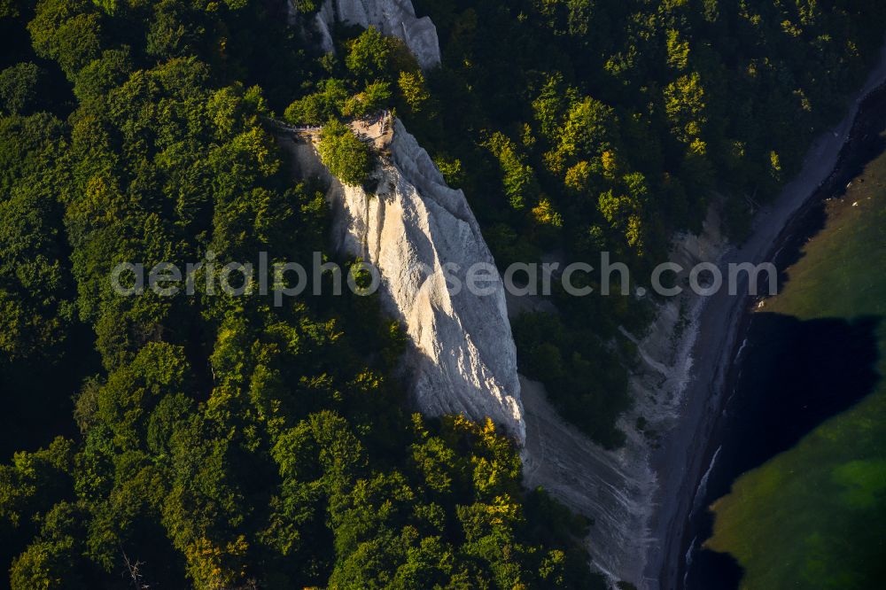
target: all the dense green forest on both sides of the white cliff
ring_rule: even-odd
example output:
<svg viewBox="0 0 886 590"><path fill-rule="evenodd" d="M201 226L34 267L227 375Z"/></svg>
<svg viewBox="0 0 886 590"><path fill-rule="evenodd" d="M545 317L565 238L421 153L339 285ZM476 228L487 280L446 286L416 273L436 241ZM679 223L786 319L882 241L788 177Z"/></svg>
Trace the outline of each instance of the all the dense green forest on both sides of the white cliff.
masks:
<svg viewBox="0 0 886 590"><path fill-rule="evenodd" d="M300 2L315 10L312 2ZM882 43L867 1L428 0L443 66L281 2L0 0L0 561L34 588L595 587L589 524L521 489L492 423L410 415L377 301L150 291L137 260L307 261L323 187L271 117L392 108L466 191L501 265L610 250L635 268L723 195L771 198ZM331 254L330 254L331 256ZM202 272L209 272L204 270ZM220 271L214 271L220 272ZM327 277L331 280L331 277ZM649 304L555 297L521 369L606 446Z"/></svg>

